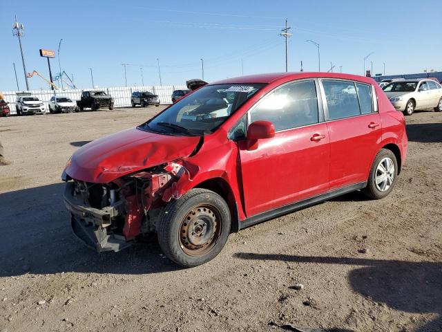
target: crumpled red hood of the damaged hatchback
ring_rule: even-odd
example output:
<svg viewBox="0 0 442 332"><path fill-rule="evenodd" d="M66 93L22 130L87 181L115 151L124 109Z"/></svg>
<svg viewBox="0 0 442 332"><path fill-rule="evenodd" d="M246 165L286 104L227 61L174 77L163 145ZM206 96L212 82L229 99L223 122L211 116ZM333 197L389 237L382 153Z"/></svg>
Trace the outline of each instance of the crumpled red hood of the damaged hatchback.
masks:
<svg viewBox="0 0 442 332"><path fill-rule="evenodd" d="M73 154L65 172L71 178L109 183L142 169L189 156L198 136L169 136L137 128L99 138Z"/></svg>

